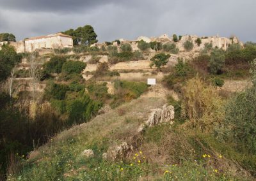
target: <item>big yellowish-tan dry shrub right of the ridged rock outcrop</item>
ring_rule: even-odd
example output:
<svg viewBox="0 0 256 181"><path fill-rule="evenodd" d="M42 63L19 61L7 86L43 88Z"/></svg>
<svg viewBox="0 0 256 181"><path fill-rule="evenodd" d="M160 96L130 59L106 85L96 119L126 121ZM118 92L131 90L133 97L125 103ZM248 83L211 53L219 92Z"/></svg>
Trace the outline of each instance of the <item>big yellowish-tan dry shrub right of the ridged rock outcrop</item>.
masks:
<svg viewBox="0 0 256 181"><path fill-rule="evenodd" d="M182 110L192 127L211 130L223 120L223 103L216 89L198 77L188 80L184 87Z"/></svg>

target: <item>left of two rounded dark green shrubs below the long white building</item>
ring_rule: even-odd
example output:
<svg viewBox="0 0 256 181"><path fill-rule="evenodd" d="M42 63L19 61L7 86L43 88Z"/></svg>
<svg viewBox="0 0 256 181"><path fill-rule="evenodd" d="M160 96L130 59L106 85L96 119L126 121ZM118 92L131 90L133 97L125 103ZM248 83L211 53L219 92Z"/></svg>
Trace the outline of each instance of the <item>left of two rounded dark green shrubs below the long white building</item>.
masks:
<svg viewBox="0 0 256 181"><path fill-rule="evenodd" d="M49 62L44 64L44 69L47 73L61 73L61 68L66 62L66 58L63 56L51 57Z"/></svg>

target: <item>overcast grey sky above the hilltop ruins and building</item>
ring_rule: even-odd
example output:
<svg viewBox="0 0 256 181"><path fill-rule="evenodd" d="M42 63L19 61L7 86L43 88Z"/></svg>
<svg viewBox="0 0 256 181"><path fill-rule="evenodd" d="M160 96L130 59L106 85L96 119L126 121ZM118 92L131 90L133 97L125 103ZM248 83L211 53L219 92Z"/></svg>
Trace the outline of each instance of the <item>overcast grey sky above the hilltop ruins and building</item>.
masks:
<svg viewBox="0 0 256 181"><path fill-rule="evenodd" d="M161 34L256 42L255 0L0 0L0 33L16 40L92 25L99 42Z"/></svg>

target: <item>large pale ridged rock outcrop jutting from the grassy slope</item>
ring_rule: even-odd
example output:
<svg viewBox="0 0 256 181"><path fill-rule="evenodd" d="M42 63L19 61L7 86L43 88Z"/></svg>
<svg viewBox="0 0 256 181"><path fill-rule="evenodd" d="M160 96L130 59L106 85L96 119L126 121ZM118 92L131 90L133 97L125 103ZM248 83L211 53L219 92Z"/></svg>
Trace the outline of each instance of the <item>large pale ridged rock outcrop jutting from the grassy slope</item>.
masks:
<svg viewBox="0 0 256 181"><path fill-rule="evenodd" d="M164 105L163 108L157 108L151 113L149 119L144 124L141 124L141 126L138 129L138 132L143 131L145 129L145 126L152 127L156 124L161 124L164 122L170 122L170 124L172 124L173 119L174 107L172 105Z"/></svg>

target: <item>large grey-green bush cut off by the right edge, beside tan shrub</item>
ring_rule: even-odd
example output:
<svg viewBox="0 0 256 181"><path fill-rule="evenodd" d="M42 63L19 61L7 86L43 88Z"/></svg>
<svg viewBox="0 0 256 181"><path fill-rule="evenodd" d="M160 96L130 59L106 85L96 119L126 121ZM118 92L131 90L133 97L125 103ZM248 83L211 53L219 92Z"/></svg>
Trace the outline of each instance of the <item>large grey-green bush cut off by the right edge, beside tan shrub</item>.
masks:
<svg viewBox="0 0 256 181"><path fill-rule="evenodd" d="M252 87L231 98L225 106L225 119L219 135L256 152L256 60L252 63ZM243 150L243 146L240 148Z"/></svg>

